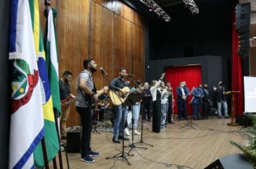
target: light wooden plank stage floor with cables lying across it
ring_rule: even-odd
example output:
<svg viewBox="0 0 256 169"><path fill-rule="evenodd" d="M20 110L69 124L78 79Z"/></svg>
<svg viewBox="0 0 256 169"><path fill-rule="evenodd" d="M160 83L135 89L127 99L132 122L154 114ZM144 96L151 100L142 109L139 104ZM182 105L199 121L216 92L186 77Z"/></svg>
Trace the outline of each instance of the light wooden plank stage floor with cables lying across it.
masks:
<svg viewBox="0 0 256 169"><path fill-rule="evenodd" d="M111 142L111 132L92 133L92 149L98 150L101 156L93 158L95 163L89 164L81 162L80 154L68 153L70 168L177 168L177 165L184 165L188 168L205 168L214 160L233 153L242 153L240 150L229 144L229 140L237 143L246 143L246 140L239 135L242 126L231 127L227 125L230 119L196 120L196 128L182 127L186 120L178 121L175 124L168 124L160 133L152 132L152 122L144 123L143 140L154 147L145 144L137 146L147 147L147 150L135 148L127 159L132 165L128 165L122 158L106 160L120 153L122 144ZM140 131L140 128L139 128ZM131 132L131 131L130 131ZM131 137L131 136L129 136ZM140 140L140 136L135 135L135 143ZM131 139L130 139L131 141ZM125 145L129 142L125 141ZM129 148L125 148L128 152ZM50 163L52 165L52 163ZM63 153L63 165L67 168L65 153ZM171 166L170 166L171 165ZM52 166L51 166L52 168Z"/></svg>

